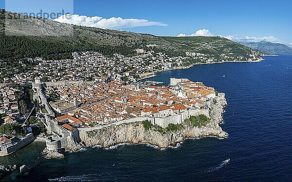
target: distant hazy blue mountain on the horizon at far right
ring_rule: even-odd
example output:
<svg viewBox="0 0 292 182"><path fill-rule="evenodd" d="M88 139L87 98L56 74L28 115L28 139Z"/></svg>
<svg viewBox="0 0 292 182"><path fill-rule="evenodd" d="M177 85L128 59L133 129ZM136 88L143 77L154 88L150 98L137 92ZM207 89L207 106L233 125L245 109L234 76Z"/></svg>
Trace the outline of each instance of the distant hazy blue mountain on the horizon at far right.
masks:
<svg viewBox="0 0 292 182"><path fill-rule="evenodd" d="M260 41L260 42L249 42L244 43L240 42L241 44L262 51L266 54L275 54L275 55L292 55L292 48L280 43L272 43L268 41Z"/></svg>

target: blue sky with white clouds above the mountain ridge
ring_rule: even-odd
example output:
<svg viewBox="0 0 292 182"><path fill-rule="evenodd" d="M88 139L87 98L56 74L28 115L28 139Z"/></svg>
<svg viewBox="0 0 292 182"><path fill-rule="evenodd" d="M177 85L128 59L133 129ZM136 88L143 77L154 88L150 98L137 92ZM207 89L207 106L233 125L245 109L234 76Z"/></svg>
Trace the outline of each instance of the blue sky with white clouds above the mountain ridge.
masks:
<svg viewBox="0 0 292 182"><path fill-rule="evenodd" d="M56 6L52 0L39 1L47 8L50 5L45 3L46 1L55 4L55 7L52 5L52 11L54 8L66 6L66 3L60 2ZM70 0L65 1L70 4ZM101 25L102 22L99 22L92 25L101 28L109 26L112 29L159 36L197 35L198 30L206 29L209 30L207 35L232 36L234 40L245 39L248 36L253 40L267 39L273 42L292 43L291 0L73 0L73 3L73 14L122 18L119 20L122 26L110 24L116 23L115 19L111 19L113 21L103 19L102 22L105 24ZM32 3L26 6L17 3L13 6L13 11L18 11L18 8L27 8L29 11L37 5ZM0 7L5 7L4 0L0 0ZM80 17L75 18L80 20ZM138 20L132 22L127 20L128 18ZM140 19L149 22L141 23ZM94 19L94 22L99 20Z"/></svg>

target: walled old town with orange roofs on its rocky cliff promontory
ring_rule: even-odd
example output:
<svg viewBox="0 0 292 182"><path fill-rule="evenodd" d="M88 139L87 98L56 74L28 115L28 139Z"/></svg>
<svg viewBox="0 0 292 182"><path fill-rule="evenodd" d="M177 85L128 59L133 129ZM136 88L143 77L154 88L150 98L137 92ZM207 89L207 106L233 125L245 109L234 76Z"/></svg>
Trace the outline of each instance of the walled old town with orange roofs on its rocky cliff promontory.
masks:
<svg viewBox="0 0 292 182"><path fill-rule="evenodd" d="M171 78L169 86L126 85L123 81L41 82L34 99L44 107L47 158L61 149L148 143L161 148L187 138L227 137L219 124L225 94L201 82ZM47 95L60 99L47 102Z"/></svg>

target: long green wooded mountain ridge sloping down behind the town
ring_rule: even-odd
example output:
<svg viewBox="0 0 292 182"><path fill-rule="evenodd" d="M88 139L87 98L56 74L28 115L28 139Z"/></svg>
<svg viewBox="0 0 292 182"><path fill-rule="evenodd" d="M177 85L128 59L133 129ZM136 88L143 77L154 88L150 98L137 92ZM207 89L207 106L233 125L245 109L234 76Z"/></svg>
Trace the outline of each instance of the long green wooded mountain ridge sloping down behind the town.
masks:
<svg viewBox="0 0 292 182"><path fill-rule="evenodd" d="M12 13L22 20L19 26L14 27L5 21L6 13L11 12L0 9L0 59L3 60L25 57L61 59L70 57L72 52L80 51L96 51L104 55L133 55L137 48L162 52L169 56L197 52L218 59L221 54L233 54L245 59L257 54L251 48L218 36L153 36L70 25L44 18L24 18L24 15ZM7 36L7 33L12 36Z"/></svg>

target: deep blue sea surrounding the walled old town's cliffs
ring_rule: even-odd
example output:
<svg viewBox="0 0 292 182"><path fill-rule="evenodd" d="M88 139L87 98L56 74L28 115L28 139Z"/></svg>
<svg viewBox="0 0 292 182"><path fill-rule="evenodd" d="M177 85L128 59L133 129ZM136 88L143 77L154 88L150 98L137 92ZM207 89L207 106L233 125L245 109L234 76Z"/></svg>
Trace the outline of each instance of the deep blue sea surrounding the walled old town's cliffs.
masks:
<svg viewBox="0 0 292 182"><path fill-rule="evenodd" d="M29 164L30 174L7 182L291 182L292 56L265 56L261 62L196 65L157 73L153 81L189 78L226 93L221 125L227 139L188 139L177 147L127 144L86 148L65 159L41 159L42 142L0 158L2 164Z"/></svg>

